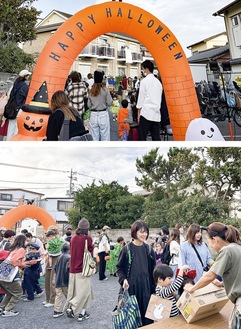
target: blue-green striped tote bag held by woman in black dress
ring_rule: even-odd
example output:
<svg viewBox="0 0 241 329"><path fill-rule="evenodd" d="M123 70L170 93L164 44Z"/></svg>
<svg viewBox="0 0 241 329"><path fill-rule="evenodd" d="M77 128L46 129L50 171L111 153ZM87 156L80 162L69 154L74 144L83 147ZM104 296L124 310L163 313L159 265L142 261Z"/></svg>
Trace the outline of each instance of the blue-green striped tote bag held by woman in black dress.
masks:
<svg viewBox="0 0 241 329"><path fill-rule="evenodd" d="M112 313L112 328L137 329L141 325L141 313L136 296L130 296L128 290L124 290L116 311Z"/></svg>

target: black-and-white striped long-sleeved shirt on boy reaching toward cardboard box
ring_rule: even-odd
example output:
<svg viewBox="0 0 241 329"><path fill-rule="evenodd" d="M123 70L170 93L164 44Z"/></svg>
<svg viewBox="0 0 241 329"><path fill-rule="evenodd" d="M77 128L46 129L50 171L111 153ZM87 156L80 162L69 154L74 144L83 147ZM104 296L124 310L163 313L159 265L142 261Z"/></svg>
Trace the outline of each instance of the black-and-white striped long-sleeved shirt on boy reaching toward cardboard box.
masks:
<svg viewBox="0 0 241 329"><path fill-rule="evenodd" d="M161 298L169 299L172 301L172 309L170 313L170 318L179 315L179 309L177 308L177 301L174 297L173 293L178 290L183 283L183 277L178 275L177 278L172 282L172 284L168 287L156 286L156 295Z"/></svg>

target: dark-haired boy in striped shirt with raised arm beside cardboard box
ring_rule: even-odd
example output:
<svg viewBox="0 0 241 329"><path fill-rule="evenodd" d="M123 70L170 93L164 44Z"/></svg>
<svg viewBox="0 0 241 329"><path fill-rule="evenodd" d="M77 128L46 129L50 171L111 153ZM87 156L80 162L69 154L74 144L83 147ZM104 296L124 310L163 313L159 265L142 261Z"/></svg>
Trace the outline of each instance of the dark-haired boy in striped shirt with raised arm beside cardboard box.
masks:
<svg viewBox="0 0 241 329"><path fill-rule="evenodd" d="M166 264L157 265L153 271L154 281L156 283L156 295L172 301L172 309L170 317L180 314L177 308L175 291L177 291L183 284L184 271L190 269L189 265L183 265L178 273L176 279L172 282L173 270Z"/></svg>

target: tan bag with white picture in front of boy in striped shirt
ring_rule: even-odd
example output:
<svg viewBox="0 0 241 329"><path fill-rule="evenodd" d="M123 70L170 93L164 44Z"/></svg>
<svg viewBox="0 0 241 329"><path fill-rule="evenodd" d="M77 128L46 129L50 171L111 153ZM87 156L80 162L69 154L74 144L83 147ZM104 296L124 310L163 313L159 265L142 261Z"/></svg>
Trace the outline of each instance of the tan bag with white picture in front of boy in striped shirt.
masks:
<svg viewBox="0 0 241 329"><path fill-rule="evenodd" d="M170 317L171 309L171 300L151 295L145 317L154 321L167 319Z"/></svg>

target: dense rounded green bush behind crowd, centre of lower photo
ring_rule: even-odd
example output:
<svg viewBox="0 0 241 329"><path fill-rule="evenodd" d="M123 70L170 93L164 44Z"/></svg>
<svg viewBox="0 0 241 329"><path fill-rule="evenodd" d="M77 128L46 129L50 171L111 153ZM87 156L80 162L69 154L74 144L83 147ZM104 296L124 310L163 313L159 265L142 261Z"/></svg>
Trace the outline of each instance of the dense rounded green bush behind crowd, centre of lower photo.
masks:
<svg viewBox="0 0 241 329"><path fill-rule="evenodd" d="M67 215L74 227L77 227L81 217L86 217L91 228L101 228L109 225L112 228L129 228L142 216L144 199L132 196L127 186L117 182L100 185L93 182L75 194L75 210L71 209Z"/></svg>

